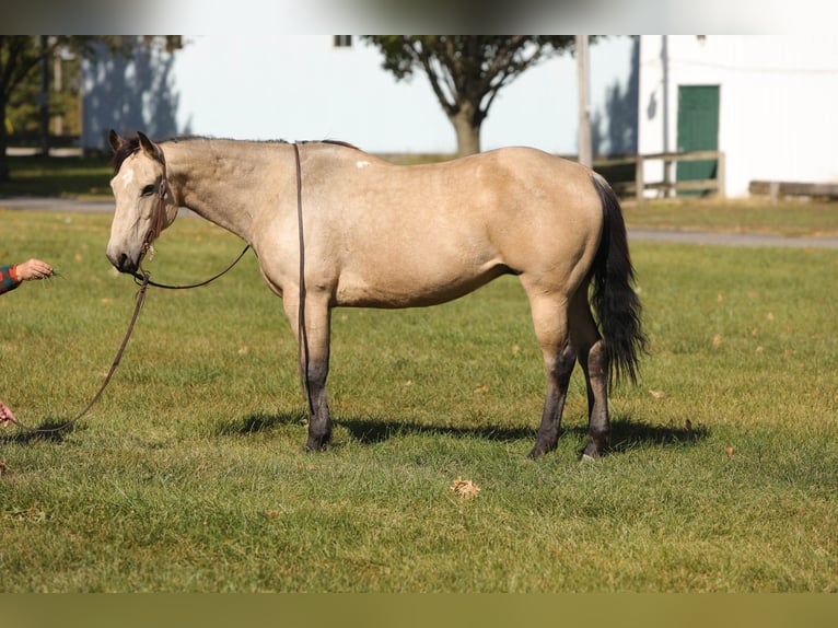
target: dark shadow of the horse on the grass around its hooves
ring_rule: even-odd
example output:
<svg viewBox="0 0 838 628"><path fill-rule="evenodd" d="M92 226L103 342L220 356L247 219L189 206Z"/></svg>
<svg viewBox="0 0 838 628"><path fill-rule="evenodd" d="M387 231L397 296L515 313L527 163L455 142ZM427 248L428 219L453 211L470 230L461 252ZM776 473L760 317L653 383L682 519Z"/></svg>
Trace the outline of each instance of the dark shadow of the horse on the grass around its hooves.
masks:
<svg viewBox="0 0 838 628"><path fill-rule="evenodd" d="M381 419L366 417L336 417L335 425L346 429L351 439L364 445L386 442L401 435L450 435L454 438L476 438L488 441L512 442L535 439L534 427L456 427L433 426L410 420ZM305 425L304 415L294 412L255 414L242 417L237 421L225 423L219 429L222 435L247 435L268 432L282 426ZM584 441L587 427L573 425L562 428L561 437ZM703 426L684 427L657 426L637 419L630 415L619 415L612 420L612 445L606 453L618 454L638 446L672 446L694 444L707 439L708 428Z"/></svg>

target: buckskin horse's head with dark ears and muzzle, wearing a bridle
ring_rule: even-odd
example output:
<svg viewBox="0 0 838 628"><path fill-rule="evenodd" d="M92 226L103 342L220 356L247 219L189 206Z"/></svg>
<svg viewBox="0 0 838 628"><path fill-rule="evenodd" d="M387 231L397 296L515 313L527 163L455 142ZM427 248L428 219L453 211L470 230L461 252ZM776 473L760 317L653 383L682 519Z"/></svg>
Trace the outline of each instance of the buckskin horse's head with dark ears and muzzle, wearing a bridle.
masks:
<svg viewBox="0 0 838 628"><path fill-rule="evenodd" d="M113 130L108 140L115 153L110 188L116 210L107 258L120 272L135 272L160 232L174 221L177 203L158 144L143 133L128 140Z"/></svg>

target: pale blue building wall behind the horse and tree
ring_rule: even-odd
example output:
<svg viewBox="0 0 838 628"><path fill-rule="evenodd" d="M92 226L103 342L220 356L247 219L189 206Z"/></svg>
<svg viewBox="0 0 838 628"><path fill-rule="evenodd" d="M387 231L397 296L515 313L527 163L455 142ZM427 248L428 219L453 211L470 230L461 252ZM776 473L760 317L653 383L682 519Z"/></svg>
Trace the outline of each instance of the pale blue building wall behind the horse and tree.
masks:
<svg viewBox="0 0 838 628"><path fill-rule="evenodd" d="M341 139L374 152L456 150L428 80L396 82L376 48L353 38L185 36L174 56L142 53L85 66L85 148L104 148L109 128L238 139ZM637 39L591 46L595 152L637 148ZM562 56L504 88L482 127L484 150L525 144L578 150L575 59Z"/></svg>

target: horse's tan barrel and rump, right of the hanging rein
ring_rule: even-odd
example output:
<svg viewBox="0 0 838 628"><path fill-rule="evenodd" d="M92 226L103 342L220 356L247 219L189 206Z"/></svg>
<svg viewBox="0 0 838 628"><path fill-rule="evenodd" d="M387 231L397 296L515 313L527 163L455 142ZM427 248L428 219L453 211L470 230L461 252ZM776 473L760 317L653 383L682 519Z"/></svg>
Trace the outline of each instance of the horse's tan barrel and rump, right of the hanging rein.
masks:
<svg viewBox="0 0 838 628"><path fill-rule="evenodd" d="M579 164L527 148L416 166L338 147L310 154L311 259L334 269L337 304L432 304L504 272L552 290L593 260L602 209Z"/></svg>

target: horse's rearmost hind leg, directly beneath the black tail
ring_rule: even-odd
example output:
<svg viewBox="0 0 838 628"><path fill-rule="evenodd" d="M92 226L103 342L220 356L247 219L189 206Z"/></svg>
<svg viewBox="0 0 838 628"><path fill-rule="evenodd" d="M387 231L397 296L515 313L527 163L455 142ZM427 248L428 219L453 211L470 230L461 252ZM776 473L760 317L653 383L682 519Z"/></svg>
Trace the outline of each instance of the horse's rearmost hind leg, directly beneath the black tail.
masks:
<svg viewBox="0 0 838 628"><path fill-rule="evenodd" d="M608 359L591 307L587 289L580 289L570 306L571 341L585 373L587 387L587 443L583 458L597 458L608 446Z"/></svg>

